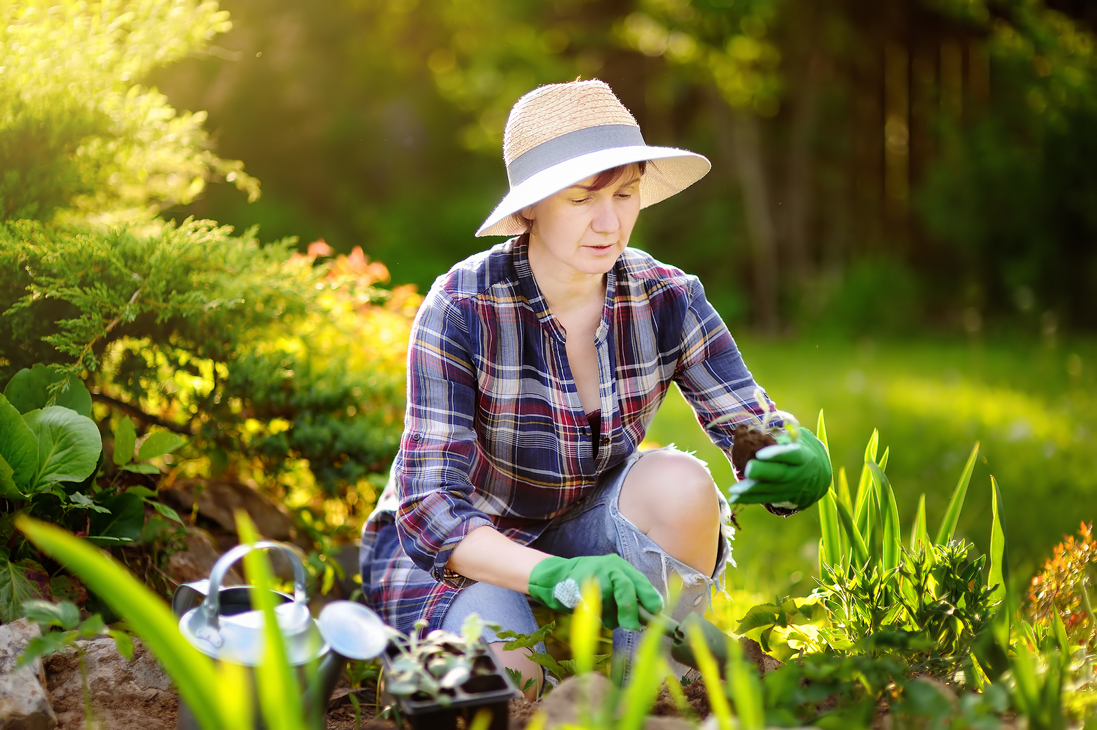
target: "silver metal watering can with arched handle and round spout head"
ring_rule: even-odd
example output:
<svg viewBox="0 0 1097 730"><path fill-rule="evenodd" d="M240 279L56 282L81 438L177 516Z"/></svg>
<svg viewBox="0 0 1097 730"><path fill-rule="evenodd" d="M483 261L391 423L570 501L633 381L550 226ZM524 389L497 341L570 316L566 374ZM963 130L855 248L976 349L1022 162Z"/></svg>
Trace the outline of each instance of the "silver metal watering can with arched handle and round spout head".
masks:
<svg viewBox="0 0 1097 730"><path fill-rule="evenodd" d="M279 605L275 618L285 641L290 663L305 687L306 710L327 709L328 699L350 659L367 660L388 646L392 629L370 608L351 601L333 601L319 619L308 609L305 567L297 554L280 543L263 540L237 545L217 560L210 579L183 583L171 597L179 616L179 630L202 653L217 661L255 668L263 650L263 616L251 607L251 586L222 586L228 569L251 550L281 550L293 568L293 595L273 591ZM312 682L305 665L317 662ZM257 726L261 727L261 726ZM179 730L200 730L183 703L179 704Z"/></svg>

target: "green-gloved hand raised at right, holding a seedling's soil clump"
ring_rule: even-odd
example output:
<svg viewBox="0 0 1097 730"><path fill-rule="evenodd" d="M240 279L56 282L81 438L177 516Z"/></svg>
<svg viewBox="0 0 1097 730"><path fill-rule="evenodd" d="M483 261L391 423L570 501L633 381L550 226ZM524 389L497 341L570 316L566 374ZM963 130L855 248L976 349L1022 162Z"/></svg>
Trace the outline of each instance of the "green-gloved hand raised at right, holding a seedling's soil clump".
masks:
<svg viewBox="0 0 1097 730"><path fill-rule="evenodd" d="M730 500L740 504L771 504L803 510L817 502L830 487L830 459L826 447L807 429L799 438L777 436L777 444L758 449L747 461L746 479L732 484Z"/></svg>

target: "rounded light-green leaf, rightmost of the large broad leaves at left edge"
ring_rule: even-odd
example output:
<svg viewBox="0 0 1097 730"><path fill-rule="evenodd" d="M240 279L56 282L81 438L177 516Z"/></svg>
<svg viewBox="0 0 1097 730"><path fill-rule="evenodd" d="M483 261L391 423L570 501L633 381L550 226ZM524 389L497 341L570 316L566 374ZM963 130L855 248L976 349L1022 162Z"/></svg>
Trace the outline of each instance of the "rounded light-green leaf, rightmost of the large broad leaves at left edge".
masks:
<svg viewBox="0 0 1097 730"><path fill-rule="evenodd" d="M95 423L61 406L23 415L38 440L38 476L33 490L56 481L83 481L95 470L103 442Z"/></svg>

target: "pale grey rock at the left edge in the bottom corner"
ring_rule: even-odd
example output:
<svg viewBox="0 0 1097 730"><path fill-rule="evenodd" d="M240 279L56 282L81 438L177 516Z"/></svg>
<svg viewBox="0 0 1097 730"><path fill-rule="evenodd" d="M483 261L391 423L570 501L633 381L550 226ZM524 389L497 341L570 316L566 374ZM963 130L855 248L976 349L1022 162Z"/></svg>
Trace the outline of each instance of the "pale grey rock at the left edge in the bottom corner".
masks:
<svg viewBox="0 0 1097 730"><path fill-rule="evenodd" d="M36 659L14 671L26 643L38 635L37 625L25 618L0 626L0 730L52 730L57 727L57 716L46 693L42 660Z"/></svg>

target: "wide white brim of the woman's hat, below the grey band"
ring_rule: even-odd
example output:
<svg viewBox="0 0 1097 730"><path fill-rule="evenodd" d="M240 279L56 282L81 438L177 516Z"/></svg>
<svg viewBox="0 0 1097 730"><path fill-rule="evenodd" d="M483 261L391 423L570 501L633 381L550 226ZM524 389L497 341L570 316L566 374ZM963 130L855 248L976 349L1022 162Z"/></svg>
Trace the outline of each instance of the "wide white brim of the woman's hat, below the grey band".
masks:
<svg viewBox="0 0 1097 730"><path fill-rule="evenodd" d="M703 178L712 168L712 163L703 155L675 147L636 145L580 155L545 168L511 187L476 231L476 236L524 233L525 229L511 217L522 208L540 203L550 195L604 170L642 161L654 162L647 166L640 181L642 208L680 193Z"/></svg>

